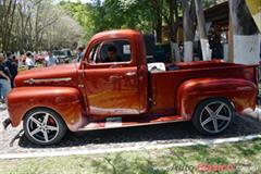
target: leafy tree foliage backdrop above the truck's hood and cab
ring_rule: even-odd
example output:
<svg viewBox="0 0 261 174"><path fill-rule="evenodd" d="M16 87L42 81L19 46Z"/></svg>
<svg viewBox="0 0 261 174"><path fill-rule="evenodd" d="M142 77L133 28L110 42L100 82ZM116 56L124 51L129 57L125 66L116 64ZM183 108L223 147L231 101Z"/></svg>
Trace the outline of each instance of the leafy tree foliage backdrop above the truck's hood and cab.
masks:
<svg viewBox="0 0 261 174"><path fill-rule="evenodd" d="M174 35L177 16L183 13L181 3L182 0L0 0L0 52L76 48L98 32L119 28L158 34L161 41L162 25L172 28L170 38ZM208 8L217 1L202 3Z"/></svg>

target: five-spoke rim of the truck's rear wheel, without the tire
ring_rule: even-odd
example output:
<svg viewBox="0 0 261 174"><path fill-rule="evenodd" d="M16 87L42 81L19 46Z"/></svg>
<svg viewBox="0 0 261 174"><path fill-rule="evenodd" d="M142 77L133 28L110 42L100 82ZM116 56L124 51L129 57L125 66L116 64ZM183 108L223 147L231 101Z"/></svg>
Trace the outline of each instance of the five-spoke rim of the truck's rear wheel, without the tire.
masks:
<svg viewBox="0 0 261 174"><path fill-rule="evenodd" d="M200 114L200 124L204 130L217 134L224 130L232 121L229 107L222 101L214 101L203 108Z"/></svg>

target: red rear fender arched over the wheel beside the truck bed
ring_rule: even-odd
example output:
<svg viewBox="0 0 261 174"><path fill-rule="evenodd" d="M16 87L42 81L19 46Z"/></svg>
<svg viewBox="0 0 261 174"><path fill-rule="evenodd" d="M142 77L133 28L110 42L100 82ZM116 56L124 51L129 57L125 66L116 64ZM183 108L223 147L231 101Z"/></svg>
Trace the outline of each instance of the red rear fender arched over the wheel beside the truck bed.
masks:
<svg viewBox="0 0 261 174"><path fill-rule="evenodd" d="M185 120L191 120L196 107L208 98L225 98L233 102L236 112L254 110L257 86L240 78L197 78L178 87L177 110Z"/></svg>

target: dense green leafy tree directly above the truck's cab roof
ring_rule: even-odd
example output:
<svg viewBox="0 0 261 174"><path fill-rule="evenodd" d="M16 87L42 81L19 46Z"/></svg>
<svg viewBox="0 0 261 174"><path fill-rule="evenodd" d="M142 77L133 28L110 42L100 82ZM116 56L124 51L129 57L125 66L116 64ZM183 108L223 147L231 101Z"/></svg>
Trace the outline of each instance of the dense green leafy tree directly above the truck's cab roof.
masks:
<svg viewBox="0 0 261 174"><path fill-rule="evenodd" d="M119 28L149 34L156 30L157 40L162 41L163 0L96 0L85 4L62 1L60 5L84 26L85 41L98 32Z"/></svg>

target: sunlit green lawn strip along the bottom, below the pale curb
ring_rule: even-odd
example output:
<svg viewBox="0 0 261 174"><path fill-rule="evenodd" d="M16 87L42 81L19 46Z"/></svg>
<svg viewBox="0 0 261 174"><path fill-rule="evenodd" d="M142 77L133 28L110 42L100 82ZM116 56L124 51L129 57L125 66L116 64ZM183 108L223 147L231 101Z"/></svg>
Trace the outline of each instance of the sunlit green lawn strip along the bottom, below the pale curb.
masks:
<svg viewBox="0 0 261 174"><path fill-rule="evenodd" d="M208 164L225 173L261 173L261 139L219 146L194 146L99 156L0 161L0 173L22 174L178 174L200 173ZM202 166L202 165L201 165ZM201 172L202 173L202 172ZM224 172L220 172L224 173Z"/></svg>

